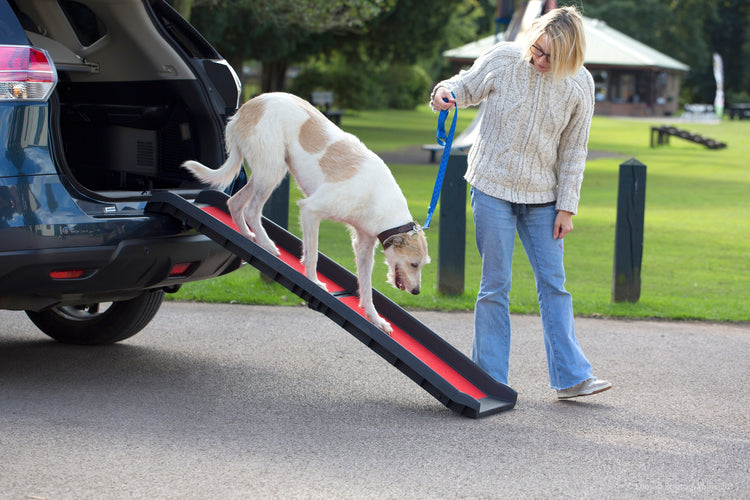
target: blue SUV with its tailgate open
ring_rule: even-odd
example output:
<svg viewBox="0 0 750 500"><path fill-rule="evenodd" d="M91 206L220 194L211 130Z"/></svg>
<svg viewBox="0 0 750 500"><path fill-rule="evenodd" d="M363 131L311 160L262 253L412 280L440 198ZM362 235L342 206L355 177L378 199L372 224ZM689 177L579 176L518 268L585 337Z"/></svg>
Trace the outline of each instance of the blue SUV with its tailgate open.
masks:
<svg viewBox="0 0 750 500"><path fill-rule="evenodd" d="M219 165L238 79L163 0L0 0L0 309L62 342L107 344L165 292L237 269L157 190Z"/></svg>

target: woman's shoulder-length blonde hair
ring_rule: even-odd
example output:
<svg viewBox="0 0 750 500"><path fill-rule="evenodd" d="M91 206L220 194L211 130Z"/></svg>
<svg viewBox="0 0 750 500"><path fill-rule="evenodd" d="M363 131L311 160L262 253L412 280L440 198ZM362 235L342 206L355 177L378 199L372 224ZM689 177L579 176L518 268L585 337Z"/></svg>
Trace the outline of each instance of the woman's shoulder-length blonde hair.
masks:
<svg viewBox="0 0 750 500"><path fill-rule="evenodd" d="M553 78L573 76L583 66L586 36L583 19L575 7L560 7L537 18L529 27L523 46L524 59L531 59L531 46L542 35L547 35L550 46L550 66Z"/></svg>

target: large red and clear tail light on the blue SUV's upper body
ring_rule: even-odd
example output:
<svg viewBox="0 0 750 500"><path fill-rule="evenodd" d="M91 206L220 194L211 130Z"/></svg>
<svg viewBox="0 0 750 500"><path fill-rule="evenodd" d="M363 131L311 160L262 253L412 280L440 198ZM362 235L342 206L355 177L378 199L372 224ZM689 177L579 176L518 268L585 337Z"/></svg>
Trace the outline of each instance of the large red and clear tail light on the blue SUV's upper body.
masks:
<svg viewBox="0 0 750 500"><path fill-rule="evenodd" d="M56 83L55 65L45 51L0 45L0 101L46 101Z"/></svg>

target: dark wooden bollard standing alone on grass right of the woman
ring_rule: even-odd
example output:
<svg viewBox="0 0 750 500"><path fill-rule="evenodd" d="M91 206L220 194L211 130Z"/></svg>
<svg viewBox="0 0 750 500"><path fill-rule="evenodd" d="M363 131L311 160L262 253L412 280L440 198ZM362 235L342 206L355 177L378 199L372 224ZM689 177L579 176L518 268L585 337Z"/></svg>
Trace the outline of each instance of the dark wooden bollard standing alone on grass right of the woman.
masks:
<svg viewBox="0 0 750 500"><path fill-rule="evenodd" d="M646 165L635 158L620 165L615 226L613 302L638 302L641 296Z"/></svg>

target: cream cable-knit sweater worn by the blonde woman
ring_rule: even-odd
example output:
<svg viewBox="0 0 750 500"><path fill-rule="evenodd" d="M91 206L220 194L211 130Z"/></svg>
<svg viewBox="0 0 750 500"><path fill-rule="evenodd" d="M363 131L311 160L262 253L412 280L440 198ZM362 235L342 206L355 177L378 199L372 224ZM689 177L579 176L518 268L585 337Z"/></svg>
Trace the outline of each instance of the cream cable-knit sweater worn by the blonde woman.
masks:
<svg viewBox="0 0 750 500"><path fill-rule="evenodd" d="M585 68L556 81L522 59L519 44L503 42L438 87L451 90L458 107L486 100L469 151L469 184L512 203L556 201L557 210L578 211L594 114L594 80Z"/></svg>

